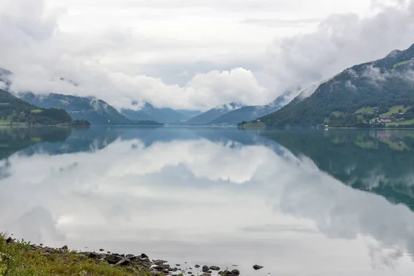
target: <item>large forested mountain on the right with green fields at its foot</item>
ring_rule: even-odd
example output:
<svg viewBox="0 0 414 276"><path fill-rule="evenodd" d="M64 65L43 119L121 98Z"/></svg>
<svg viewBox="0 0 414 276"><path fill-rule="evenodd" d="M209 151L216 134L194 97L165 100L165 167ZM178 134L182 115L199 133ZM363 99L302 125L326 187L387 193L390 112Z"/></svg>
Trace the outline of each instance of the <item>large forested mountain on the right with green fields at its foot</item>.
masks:
<svg viewBox="0 0 414 276"><path fill-rule="evenodd" d="M410 126L414 121L406 118L414 106L413 68L414 44L384 59L348 68L321 83L309 97L299 95L260 119L277 127Z"/></svg>

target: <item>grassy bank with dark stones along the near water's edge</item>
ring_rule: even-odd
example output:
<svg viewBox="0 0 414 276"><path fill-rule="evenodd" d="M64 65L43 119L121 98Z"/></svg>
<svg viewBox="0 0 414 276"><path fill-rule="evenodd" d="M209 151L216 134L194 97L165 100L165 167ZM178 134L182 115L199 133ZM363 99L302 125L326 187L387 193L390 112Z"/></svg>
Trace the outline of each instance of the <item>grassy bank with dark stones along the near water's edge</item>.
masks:
<svg viewBox="0 0 414 276"><path fill-rule="evenodd" d="M188 266L188 267L187 267ZM184 268L186 267L186 268ZM233 268L233 269L230 269ZM99 252L70 250L68 246L51 248L43 244L30 244L23 239L13 239L0 233L0 273L14 271L18 275L88 275L88 276L239 276L237 266L221 269L218 266L195 264L169 264L163 259L150 259L140 255L111 253L101 248ZM254 265L253 270L263 266ZM76 272L75 272L76 271ZM83 274L77 274L82 271ZM270 273L269 273L270 274Z"/></svg>

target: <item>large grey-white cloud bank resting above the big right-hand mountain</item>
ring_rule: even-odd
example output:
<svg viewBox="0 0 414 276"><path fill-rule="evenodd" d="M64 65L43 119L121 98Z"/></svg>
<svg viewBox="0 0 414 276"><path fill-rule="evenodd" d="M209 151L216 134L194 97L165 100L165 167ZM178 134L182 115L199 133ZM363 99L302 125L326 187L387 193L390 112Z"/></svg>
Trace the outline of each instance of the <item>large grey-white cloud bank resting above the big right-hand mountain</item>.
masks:
<svg viewBox="0 0 414 276"><path fill-rule="evenodd" d="M381 2L382 3L382 2ZM371 17L334 14L315 32L276 39L268 48L266 70L282 89L328 79L358 63L380 59L414 43L414 1L373 2Z"/></svg>

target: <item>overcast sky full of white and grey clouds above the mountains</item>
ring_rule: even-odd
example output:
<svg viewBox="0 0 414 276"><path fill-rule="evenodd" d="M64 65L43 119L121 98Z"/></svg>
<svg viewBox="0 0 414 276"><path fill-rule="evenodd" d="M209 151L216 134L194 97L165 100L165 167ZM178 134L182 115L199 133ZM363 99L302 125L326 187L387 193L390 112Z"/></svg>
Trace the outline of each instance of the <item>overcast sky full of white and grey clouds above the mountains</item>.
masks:
<svg viewBox="0 0 414 276"><path fill-rule="evenodd" d="M0 0L12 91L266 104L414 43L414 0Z"/></svg>

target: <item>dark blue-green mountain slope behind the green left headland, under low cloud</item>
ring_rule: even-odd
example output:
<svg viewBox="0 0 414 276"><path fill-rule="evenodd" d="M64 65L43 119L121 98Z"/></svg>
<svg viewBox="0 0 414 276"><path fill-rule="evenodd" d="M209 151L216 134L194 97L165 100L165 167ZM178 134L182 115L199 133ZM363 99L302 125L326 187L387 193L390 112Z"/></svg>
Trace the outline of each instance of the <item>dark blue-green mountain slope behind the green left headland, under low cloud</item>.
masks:
<svg viewBox="0 0 414 276"><path fill-rule="evenodd" d="M88 120L91 124L100 125L130 125L146 124L146 122L133 122L121 115L115 108L105 101L95 97L78 97L50 93L49 95L34 95L21 93L19 97L42 108L63 108L76 120ZM147 124L157 124L147 122Z"/></svg>

